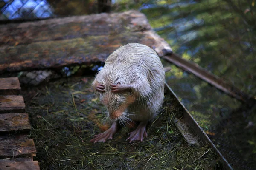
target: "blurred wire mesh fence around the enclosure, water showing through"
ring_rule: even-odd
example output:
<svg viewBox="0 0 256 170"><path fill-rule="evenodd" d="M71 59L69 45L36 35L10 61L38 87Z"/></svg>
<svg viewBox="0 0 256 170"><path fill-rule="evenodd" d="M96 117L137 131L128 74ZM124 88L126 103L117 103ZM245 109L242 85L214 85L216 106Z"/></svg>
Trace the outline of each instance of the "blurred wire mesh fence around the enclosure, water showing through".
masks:
<svg viewBox="0 0 256 170"><path fill-rule="evenodd" d="M101 1L110 5L110 1ZM95 0L3 0L0 20L38 20L97 13ZM136 9L173 51L242 91L256 96L255 0L112 0L111 12ZM4 23L3 23L4 24ZM166 81L235 169L256 168L255 106L221 93L192 74L172 68ZM79 67L61 71L24 71L21 82L38 85L68 77ZM97 69L97 68L94 68Z"/></svg>

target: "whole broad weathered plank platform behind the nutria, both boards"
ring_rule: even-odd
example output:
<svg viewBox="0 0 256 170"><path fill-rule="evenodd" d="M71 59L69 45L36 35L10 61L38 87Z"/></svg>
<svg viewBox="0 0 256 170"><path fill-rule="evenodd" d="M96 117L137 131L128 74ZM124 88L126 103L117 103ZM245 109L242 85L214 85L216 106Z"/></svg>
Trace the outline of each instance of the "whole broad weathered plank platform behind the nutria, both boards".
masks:
<svg viewBox="0 0 256 170"><path fill-rule="evenodd" d="M163 56L172 51L138 11L64 17L0 26L0 72L103 62L137 42Z"/></svg>

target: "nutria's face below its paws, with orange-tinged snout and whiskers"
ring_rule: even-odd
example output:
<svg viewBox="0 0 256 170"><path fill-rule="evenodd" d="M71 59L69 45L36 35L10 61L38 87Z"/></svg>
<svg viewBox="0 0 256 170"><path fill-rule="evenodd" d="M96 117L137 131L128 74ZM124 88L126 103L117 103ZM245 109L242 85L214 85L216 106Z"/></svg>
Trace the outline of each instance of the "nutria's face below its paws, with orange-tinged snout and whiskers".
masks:
<svg viewBox="0 0 256 170"><path fill-rule="evenodd" d="M134 102L134 97L129 93L112 93L105 91L100 93L100 100L108 110L108 116L112 120L128 118L127 108Z"/></svg>

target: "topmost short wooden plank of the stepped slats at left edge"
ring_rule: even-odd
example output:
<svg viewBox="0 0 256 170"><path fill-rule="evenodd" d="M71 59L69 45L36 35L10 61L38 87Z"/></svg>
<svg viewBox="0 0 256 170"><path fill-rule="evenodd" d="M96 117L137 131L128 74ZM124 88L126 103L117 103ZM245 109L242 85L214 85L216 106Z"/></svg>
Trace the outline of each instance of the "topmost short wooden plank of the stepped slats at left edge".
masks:
<svg viewBox="0 0 256 170"><path fill-rule="evenodd" d="M18 77L0 78L0 95L20 94Z"/></svg>

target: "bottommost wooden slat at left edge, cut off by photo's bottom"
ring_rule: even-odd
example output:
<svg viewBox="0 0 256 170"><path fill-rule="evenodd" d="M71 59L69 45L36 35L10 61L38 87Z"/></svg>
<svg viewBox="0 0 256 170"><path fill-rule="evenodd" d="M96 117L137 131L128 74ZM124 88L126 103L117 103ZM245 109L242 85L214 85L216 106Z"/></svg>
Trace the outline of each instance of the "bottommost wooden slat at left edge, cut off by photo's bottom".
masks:
<svg viewBox="0 0 256 170"><path fill-rule="evenodd" d="M38 161L0 163L0 170L40 170Z"/></svg>

